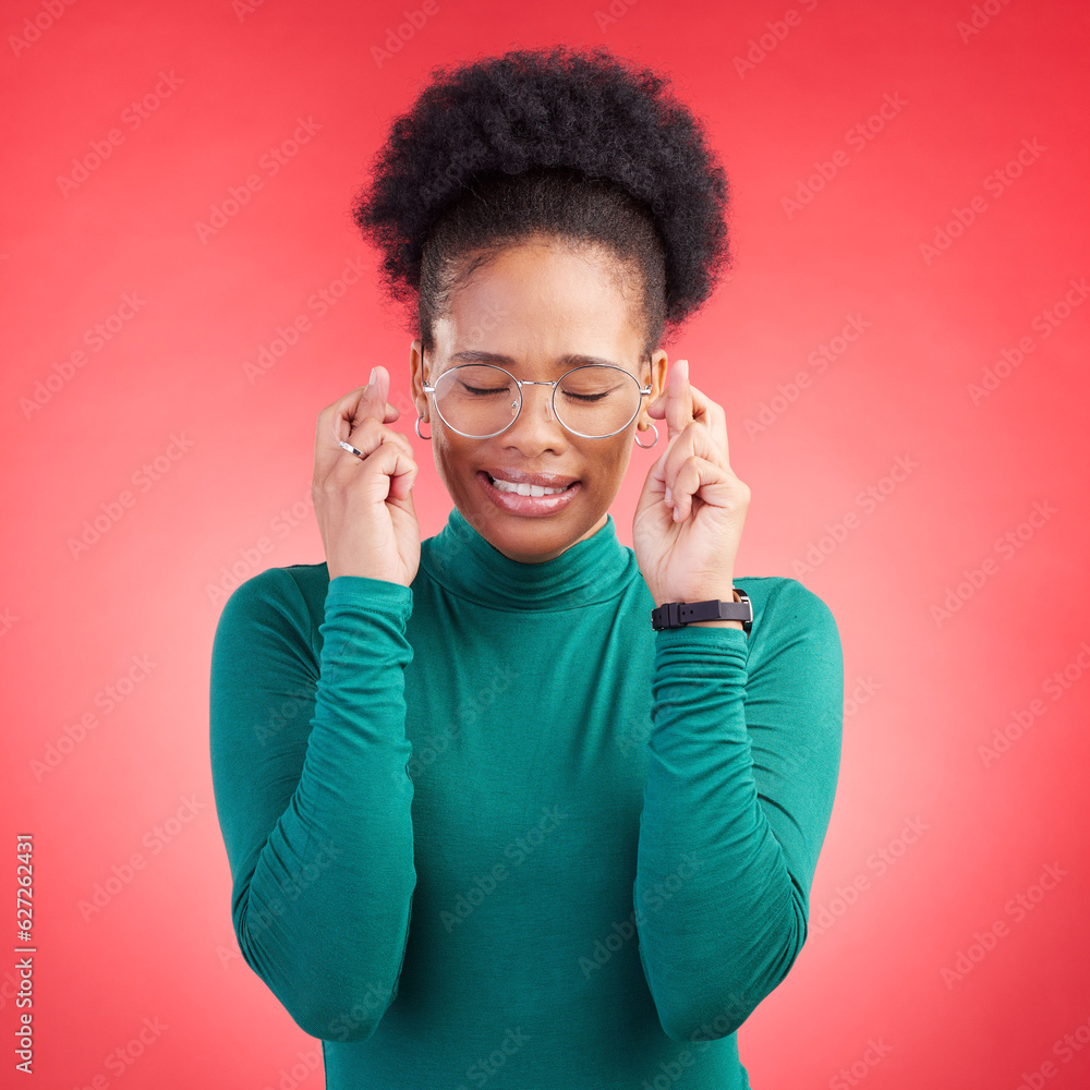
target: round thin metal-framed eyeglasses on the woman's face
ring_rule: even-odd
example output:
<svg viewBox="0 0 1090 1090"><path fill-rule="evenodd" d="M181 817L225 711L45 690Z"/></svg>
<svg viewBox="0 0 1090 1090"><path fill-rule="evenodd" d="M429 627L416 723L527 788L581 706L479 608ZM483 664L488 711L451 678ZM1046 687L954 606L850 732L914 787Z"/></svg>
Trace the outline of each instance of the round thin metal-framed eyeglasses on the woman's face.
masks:
<svg viewBox="0 0 1090 1090"><path fill-rule="evenodd" d="M530 382L491 363L468 363L424 384L435 410L452 432L488 439L506 432L522 411L523 386L552 386L553 415L573 435L604 439L635 420L650 386L631 372L606 364L574 367L554 383ZM557 400L559 398L559 400Z"/></svg>

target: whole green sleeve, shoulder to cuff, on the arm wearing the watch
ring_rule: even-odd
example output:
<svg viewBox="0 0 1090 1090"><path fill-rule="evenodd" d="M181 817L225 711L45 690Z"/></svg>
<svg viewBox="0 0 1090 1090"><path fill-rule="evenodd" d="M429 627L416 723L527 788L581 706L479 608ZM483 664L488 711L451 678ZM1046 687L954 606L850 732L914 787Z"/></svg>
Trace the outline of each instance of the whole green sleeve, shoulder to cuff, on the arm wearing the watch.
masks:
<svg viewBox="0 0 1090 1090"><path fill-rule="evenodd" d="M797 580L767 583L749 637L655 634L633 897L647 985L677 1041L735 1032L787 976L832 814L839 633Z"/></svg>

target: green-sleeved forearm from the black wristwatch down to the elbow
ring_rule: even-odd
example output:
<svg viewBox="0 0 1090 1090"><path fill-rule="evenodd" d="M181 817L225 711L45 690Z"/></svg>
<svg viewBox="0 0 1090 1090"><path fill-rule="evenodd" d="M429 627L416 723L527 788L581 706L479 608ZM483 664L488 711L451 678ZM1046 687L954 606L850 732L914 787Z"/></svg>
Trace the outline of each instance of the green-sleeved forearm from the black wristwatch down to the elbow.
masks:
<svg viewBox="0 0 1090 1090"><path fill-rule="evenodd" d="M686 629L656 634L633 891L649 985L678 1040L717 1017L740 1025L790 968L804 919L753 778L747 637Z"/></svg>

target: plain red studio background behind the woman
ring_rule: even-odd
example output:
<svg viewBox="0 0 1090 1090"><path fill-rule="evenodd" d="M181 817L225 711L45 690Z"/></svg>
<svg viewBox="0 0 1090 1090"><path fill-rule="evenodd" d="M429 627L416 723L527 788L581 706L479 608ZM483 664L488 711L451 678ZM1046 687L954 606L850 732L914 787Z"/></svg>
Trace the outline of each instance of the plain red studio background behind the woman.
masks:
<svg viewBox="0 0 1090 1090"><path fill-rule="evenodd" d="M0 844L13 891L14 836L34 834L40 1083L276 1087L300 1053L318 1054L233 941L208 760L222 602L209 589L225 566L249 577L324 559L306 507L315 417L376 362L416 445L424 536L446 521L449 497L405 411L410 336L380 303L348 207L433 65L566 41L671 74L723 156L736 268L671 359L688 358L693 384L725 407L731 464L752 489L738 574L799 578L844 643L844 759L811 934L739 1032L753 1085L852 1085L841 1068L868 1090L1014 1090L1042 1070L1050 1087L1090 1085L1090 305L1053 311L1090 272L1086 5L989 0L967 35L968 2L616 0L604 21L605 0L519 13L429 0L423 24L376 59L419 7L5 9ZM125 111L155 100L160 73L174 89L133 128ZM300 118L320 129L274 175L262 157ZM870 137L849 141L857 125ZM111 130L122 140L105 161L60 182ZM1020 148L1036 150L1008 170ZM836 172L785 205L815 164ZM202 241L196 223L254 173L262 187ZM960 231L958 209L974 213ZM952 220L957 237L940 249ZM364 276L319 317L307 301L350 259ZM144 302L95 351L85 330L125 292ZM300 315L310 329L251 382L244 364ZM851 316L863 331L819 371L811 353ZM1001 364L1026 337L1022 362ZM974 404L985 368L997 382ZM792 391L800 373L809 384ZM44 403L27 411L36 390ZM748 428L762 402L767 425ZM160 456L138 491L134 474ZM654 457L633 451L613 508L626 544ZM910 471L895 480L898 458ZM74 554L84 520L125 489L133 505ZM1034 505L1051 512L1038 526ZM253 554L263 536L275 547ZM818 562L800 567L808 556ZM958 608L944 617L947 594ZM146 676L107 712L102 693L134 656ZM1004 752L982 755L1034 706L1043 714L1012 726ZM97 725L63 742L86 713ZM195 816L156 841L187 798ZM925 826L915 843L907 822ZM135 851L144 868L85 919L81 901ZM1066 873L1045 892L1050 864ZM1006 929L991 941L996 921ZM8 1041L14 957L0 961ZM958 964L971 971L944 977ZM123 1075L108 1065L156 1018L161 1032ZM1076 1051L1061 1054L1065 1034ZM13 1062L5 1047L5 1071ZM301 1085L320 1086L320 1068Z"/></svg>

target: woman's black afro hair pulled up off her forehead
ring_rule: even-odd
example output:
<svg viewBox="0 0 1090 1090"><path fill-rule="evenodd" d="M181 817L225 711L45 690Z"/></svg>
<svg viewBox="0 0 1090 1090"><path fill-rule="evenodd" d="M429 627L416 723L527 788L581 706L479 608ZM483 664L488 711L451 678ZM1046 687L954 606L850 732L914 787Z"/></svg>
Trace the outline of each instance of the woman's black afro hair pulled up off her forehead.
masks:
<svg viewBox="0 0 1090 1090"><path fill-rule="evenodd" d="M665 77L604 46L510 50L432 77L352 204L423 350L450 291L535 237L638 270L644 356L668 341L730 253L726 172Z"/></svg>

